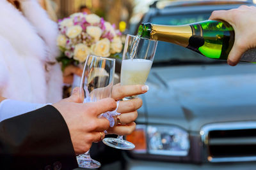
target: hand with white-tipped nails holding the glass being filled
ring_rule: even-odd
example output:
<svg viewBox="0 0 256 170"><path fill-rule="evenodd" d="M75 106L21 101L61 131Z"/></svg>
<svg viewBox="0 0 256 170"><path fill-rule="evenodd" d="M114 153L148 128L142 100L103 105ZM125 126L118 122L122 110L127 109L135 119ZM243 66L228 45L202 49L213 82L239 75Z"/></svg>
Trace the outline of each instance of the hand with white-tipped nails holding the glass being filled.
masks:
<svg viewBox="0 0 256 170"><path fill-rule="evenodd" d="M125 85L120 84L113 86L112 98L115 101L123 99L128 96L135 96L144 94L148 91L147 85ZM120 101L117 112L122 113L120 115L120 123L122 125L116 125L117 120L115 117L115 126L109 128L108 134L128 135L134 131L136 124L135 120L138 117L137 110L142 106L142 100L140 98L131 99L128 101Z"/></svg>

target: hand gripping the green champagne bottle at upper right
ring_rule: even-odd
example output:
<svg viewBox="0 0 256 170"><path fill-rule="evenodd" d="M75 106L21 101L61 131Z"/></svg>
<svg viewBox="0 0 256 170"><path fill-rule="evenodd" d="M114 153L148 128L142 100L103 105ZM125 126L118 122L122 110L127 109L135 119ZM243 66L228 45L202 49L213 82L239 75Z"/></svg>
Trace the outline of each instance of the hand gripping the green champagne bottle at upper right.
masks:
<svg viewBox="0 0 256 170"><path fill-rule="evenodd" d="M228 55L228 64L236 66L241 55L251 48L256 48L256 7L240 6L232 10L213 11L210 20L225 20L236 32L235 42Z"/></svg>

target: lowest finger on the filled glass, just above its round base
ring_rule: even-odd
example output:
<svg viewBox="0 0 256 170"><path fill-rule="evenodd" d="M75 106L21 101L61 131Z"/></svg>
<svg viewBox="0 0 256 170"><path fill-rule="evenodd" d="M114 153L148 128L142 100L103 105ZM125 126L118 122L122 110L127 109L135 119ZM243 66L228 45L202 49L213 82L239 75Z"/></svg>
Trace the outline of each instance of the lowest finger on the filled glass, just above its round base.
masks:
<svg viewBox="0 0 256 170"><path fill-rule="evenodd" d="M108 134L128 135L131 134L136 128L135 122L127 125L118 125L108 129Z"/></svg>

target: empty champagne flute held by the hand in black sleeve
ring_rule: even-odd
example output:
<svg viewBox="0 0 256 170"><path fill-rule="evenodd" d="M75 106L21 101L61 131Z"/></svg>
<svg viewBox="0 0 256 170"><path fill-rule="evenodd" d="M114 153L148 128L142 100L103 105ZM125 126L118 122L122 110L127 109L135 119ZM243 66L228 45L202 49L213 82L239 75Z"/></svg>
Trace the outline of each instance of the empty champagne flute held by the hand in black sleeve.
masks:
<svg viewBox="0 0 256 170"><path fill-rule="evenodd" d="M111 97L115 74L115 59L88 55L80 83L80 97L83 103L95 102ZM79 167L94 169L100 162L93 160L88 152L78 155Z"/></svg>

